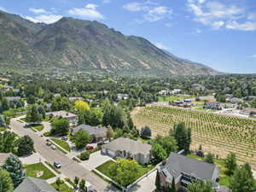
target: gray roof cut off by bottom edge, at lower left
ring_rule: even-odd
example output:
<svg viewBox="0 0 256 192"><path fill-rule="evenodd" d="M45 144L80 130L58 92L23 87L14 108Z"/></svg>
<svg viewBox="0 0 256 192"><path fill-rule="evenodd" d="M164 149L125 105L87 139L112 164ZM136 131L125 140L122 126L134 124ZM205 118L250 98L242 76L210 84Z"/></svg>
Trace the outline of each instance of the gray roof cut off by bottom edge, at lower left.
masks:
<svg viewBox="0 0 256 192"><path fill-rule="evenodd" d="M26 177L14 192L57 192L43 179Z"/></svg>

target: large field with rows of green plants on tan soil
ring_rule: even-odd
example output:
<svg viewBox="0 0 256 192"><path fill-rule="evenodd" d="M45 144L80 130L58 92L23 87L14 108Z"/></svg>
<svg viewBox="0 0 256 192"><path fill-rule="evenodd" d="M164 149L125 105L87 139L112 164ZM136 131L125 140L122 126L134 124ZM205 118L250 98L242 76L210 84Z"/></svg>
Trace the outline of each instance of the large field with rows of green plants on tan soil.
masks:
<svg viewBox="0 0 256 192"><path fill-rule="evenodd" d="M234 152L241 163L256 169L256 120L165 107L135 108L131 117L138 129L149 125L153 136L165 136L175 123L183 121L192 130L191 149L201 144L220 158Z"/></svg>

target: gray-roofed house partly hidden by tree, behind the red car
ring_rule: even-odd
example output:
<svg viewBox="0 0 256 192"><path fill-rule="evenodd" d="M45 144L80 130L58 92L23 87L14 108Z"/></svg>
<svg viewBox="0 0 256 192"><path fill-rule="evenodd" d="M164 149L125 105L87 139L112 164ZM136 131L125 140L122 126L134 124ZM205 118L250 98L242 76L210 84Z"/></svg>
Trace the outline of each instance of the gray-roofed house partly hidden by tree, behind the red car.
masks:
<svg viewBox="0 0 256 192"><path fill-rule="evenodd" d="M77 131L84 130L87 131L92 137L92 143L96 143L104 140L107 137L108 129L102 126L93 127L90 125L78 125L72 129L72 135L75 135Z"/></svg>

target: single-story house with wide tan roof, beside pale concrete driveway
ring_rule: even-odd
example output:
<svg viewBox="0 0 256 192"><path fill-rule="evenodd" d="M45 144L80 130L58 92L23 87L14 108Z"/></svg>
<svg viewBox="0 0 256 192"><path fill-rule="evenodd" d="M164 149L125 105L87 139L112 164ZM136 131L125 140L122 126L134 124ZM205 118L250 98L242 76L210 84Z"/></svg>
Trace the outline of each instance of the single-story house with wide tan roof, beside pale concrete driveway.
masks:
<svg viewBox="0 0 256 192"><path fill-rule="evenodd" d="M102 145L102 154L108 154L111 157L137 160L141 165L148 164L151 145L141 143L130 138L120 137L110 143Z"/></svg>

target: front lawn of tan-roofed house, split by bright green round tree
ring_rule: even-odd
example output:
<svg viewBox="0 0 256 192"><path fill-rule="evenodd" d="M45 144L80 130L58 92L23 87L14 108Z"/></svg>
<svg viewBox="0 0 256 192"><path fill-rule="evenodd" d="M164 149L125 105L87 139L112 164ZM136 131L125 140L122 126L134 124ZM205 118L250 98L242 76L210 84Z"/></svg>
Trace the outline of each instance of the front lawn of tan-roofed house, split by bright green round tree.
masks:
<svg viewBox="0 0 256 192"><path fill-rule="evenodd" d="M113 179L113 177L111 177L111 175L110 175L111 170L108 169L108 167L113 165L113 164L115 164L115 162L113 160L108 160L107 162L103 163L101 166L96 167L96 170L99 171L99 172L102 172L104 175ZM152 166L152 165L139 166L138 175L137 175L137 178L135 178L135 181L139 177L142 177L144 174L146 174L147 172L149 172L152 169L154 169L154 166Z"/></svg>

